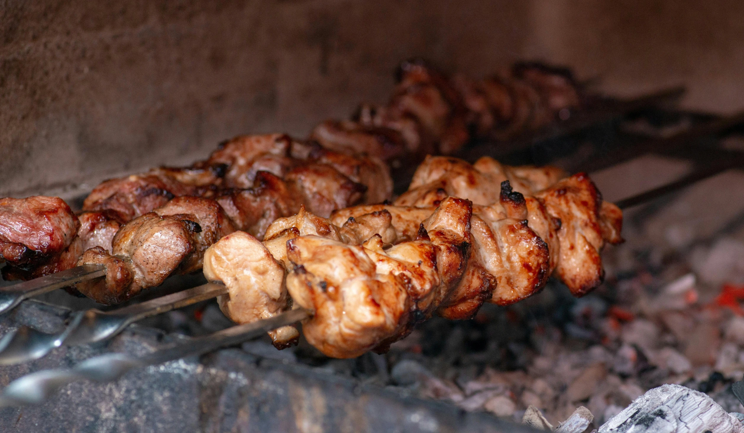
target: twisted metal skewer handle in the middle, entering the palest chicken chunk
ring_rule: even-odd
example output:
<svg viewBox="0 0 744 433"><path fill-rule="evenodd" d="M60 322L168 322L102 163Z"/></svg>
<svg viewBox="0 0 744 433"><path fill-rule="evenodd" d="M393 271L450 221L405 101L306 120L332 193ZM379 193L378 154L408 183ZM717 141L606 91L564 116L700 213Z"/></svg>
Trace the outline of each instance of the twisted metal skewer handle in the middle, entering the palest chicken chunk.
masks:
<svg viewBox="0 0 744 433"><path fill-rule="evenodd" d="M23 326L0 339L0 365L39 359L62 345L77 346L111 339L135 321L216 298L227 292L227 287L222 283L206 283L113 311L103 312L93 308L75 312L68 326L59 334L40 333Z"/></svg>

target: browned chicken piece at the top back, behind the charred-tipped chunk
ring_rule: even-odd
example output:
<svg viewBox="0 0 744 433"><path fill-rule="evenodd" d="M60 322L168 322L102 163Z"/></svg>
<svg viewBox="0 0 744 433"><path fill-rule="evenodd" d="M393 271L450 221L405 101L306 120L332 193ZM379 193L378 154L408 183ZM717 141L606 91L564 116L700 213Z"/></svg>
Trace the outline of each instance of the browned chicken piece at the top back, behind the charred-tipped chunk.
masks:
<svg viewBox="0 0 744 433"><path fill-rule="evenodd" d="M478 205L498 202L501 182L508 180L519 193L531 195L565 176L554 167L508 167L484 156L468 164L458 158L427 156L417 168L408 191L396 199L401 206L432 206L445 196L465 197Z"/></svg>

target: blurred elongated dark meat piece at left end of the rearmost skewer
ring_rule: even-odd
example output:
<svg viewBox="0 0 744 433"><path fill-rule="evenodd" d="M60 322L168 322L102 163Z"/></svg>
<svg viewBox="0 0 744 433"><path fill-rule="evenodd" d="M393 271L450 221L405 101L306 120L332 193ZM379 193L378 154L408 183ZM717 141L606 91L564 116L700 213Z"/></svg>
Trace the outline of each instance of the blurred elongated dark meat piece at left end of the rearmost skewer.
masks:
<svg viewBox="0 0 744 433"><path fill-rule="evenodd" d="M310 139L324 148L347 154L366 154L383 161L400 156L405 142L400 132L353 121L324 121L312 129Z"/></svg>

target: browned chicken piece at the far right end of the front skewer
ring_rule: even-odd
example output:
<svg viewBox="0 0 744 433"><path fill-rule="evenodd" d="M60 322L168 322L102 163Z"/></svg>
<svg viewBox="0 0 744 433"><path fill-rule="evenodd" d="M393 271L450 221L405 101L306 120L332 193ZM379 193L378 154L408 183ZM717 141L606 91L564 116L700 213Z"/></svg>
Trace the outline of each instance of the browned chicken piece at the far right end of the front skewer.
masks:
<svg viewBox="0 0 744 433"><path fill-rule="evenodd" d="M600 250L605 242L622 242L620 209L603 205L602 196L586 173L563 179L535 196L545 203L548 214L561 222L556 274L571 293L586 295L604 278ZM603 208L605 211L600 212Z"/></svg>

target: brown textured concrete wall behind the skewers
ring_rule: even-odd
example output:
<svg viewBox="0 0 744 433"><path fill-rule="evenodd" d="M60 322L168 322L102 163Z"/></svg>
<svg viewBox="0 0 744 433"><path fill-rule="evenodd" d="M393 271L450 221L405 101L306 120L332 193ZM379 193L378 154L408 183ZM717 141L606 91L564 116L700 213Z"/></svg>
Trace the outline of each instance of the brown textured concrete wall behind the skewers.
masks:
<svg viewBox="0 0 744 433"><path fill-rule="evenodd" d="M3 1L0 196L64 196L55 187L184 164L238 133L304 135L384 101L412 56L476 75L538 57L612 92L684 82L688 104L731 110L743 12L723 0Z"/></svg>

